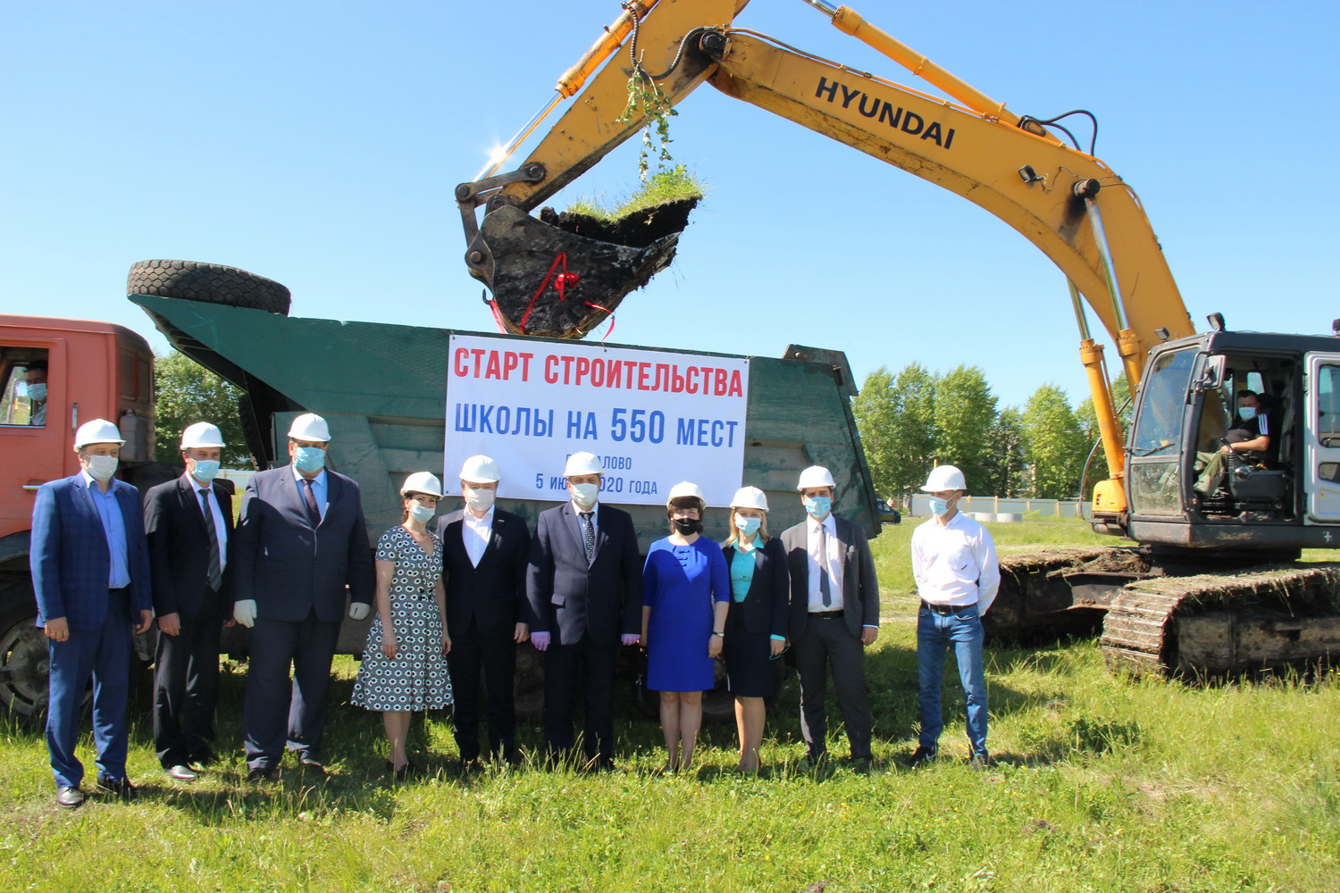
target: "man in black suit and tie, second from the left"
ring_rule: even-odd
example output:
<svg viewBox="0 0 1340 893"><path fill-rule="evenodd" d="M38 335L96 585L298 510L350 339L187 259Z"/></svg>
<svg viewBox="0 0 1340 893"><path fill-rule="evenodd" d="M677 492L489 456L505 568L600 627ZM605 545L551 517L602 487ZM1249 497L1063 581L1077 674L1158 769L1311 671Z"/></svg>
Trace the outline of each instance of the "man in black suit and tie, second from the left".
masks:
<svg viewBox="0 0 1340 893"><path fill-rule="evenodd" d="M181 435L186 473L149 490L145 534L154 580L154 748L170 778L196 779L214 762L218 637L233 623L228 540L233 497L214 481L224 436L209 422Z"/></svg>

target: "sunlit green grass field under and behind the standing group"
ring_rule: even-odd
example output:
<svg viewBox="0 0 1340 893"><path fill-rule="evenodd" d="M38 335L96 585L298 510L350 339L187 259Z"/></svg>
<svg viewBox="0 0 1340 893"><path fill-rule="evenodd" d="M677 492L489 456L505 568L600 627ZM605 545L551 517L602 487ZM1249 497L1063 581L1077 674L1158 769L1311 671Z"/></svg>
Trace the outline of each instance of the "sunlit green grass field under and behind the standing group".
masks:
<svg viewBox="0 0 1340 893"><path fill-rule="evenodd" d="M391 783L381 720L332 694L331 775L251 786L240 755L186 786L155 773L147 688L133 706L133 805L51 802L40 731L0 723L3 890L1333 890L1340 888L1340 677L1194 687L1116 677L1092 640L988 649L986 774L963 764L946 684L945 759L911 771L911 523L875 541L884 625L867 661L871 775L799 758L795 685L769 718L766 777L657 777L659 730L619 718L619 771L452 775L446 718L414 730L434 778ZM1076 522L992 525L1008 546L1084 544ZM226 664L220 744L240 748L243 669ZM953 676L953 673L950 673ZM528 724L525 744L539 740ZM843 740L833 742L839 756ZM87 752L87 747L83 752ZM819 889L811 888L811 889Z"/></svg>

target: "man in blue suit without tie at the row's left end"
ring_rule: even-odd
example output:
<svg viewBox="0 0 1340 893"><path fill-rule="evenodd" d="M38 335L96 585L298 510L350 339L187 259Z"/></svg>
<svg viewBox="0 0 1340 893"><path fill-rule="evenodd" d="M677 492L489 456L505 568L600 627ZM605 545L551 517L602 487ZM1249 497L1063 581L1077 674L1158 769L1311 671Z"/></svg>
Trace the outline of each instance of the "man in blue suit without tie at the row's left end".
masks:
<svg viewBox="0 0 1340 893"><path fill-rule="evenodd" d="M135 795L126 778L130 645L154 615L139 491L113 477L123 443L111 422L80 426L79 474L42 485L32 509L32 586L51 649L47 748L56 803L67 809L84 801L75 744L90 676L96 790Z"/></svg>

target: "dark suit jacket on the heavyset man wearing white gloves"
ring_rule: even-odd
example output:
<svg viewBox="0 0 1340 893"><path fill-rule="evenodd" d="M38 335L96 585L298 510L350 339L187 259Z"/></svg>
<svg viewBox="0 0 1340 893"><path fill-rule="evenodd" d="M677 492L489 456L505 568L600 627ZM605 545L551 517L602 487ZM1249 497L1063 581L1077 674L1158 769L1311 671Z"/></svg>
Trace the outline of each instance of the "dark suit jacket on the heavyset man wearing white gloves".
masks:
<svg viewBox="0 0 1340 893"><path fill-rule="evenodd" d="M326 470L326 517L315 529L297 493L292 465L257 471L243 495L233 536L233 600L256 600L268 620L344 617L344 586L373 604L373 549L358 485Z"/></svg>

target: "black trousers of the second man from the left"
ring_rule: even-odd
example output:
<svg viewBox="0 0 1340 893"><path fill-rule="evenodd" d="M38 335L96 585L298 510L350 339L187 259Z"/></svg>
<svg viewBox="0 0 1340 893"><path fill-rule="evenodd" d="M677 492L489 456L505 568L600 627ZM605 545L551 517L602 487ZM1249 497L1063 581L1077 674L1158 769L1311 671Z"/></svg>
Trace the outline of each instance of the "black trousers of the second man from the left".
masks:
<svg viewBox="0 0 1340 893"><path fill-rule="evenodd" d="M218 639L212 611L181 621L181 633L158 633L154 656L154 750L163 768L209 756L218 704Z"/></svg>

